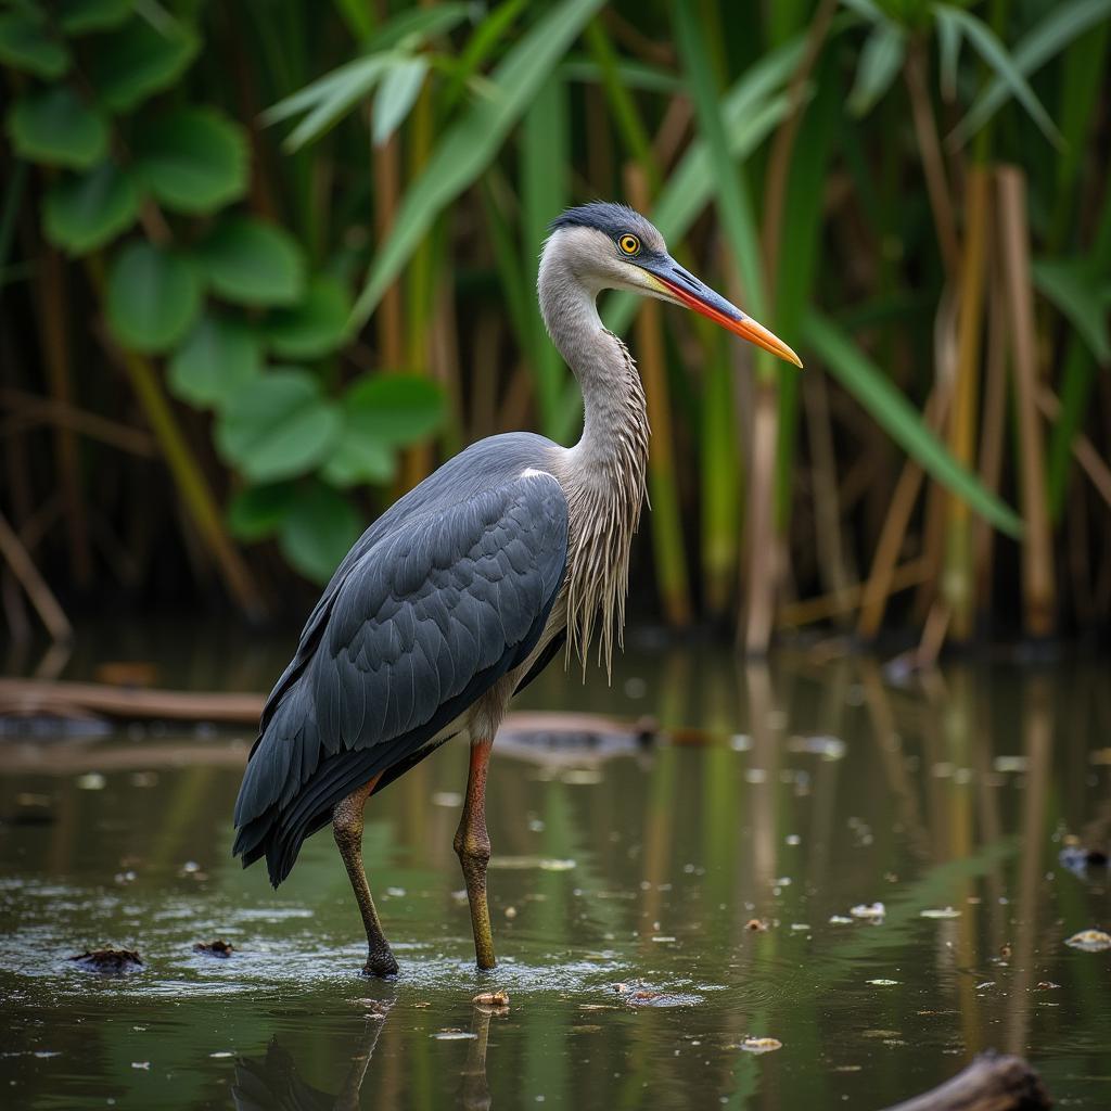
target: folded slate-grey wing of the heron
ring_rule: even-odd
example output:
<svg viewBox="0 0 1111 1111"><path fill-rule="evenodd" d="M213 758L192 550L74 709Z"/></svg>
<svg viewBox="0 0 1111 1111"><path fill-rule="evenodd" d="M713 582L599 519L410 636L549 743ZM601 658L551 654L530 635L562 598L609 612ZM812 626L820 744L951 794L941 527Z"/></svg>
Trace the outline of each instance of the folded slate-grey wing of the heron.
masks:
<svg viewBox="0 0 1111 1111"><path fill-rule="evenodd" d="M524 662L567 540L563 492L533 472L399 522L348 569L263 714L236 803L244 865L264 853L280 882L336 802Z"/></svg>

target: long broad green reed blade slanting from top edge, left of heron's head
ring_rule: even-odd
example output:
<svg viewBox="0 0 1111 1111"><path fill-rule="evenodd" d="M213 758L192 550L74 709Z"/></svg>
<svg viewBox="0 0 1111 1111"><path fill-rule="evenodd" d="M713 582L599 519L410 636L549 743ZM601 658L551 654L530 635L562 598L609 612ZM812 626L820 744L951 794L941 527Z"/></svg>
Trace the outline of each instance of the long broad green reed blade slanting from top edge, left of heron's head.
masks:
<svg viewBox="0 0 1111 1111"><path fill-rule="evenodd" d="M351 314L358 327L409 261L437 216L470 186L602 0L562 0L547 11L499 62L490 97L448 128L421 176L406 190L390 234L374 257Z"/></svg>

